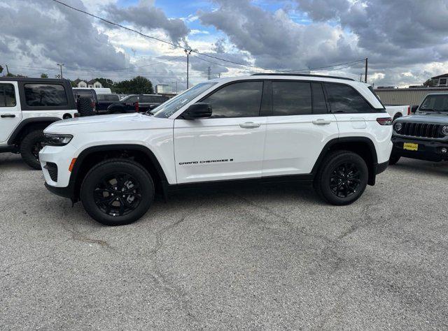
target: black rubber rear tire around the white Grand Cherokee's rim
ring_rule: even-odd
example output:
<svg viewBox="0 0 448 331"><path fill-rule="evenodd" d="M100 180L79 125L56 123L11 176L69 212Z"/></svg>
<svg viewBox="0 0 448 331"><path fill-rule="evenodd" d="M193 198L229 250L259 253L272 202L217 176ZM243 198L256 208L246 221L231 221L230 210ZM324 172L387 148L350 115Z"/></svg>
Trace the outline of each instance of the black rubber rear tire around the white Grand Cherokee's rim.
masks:
<svg viewBox="0 0 448 331"><path fill-rule="evenodd" d="M332 174L335 170L343 164L350 163L356 166L359 172L359 183L356 191L350 196L340 197L330 188ZM367 165L364 159L356 153L350 151L335 151L330 152L323 159L321 166L314 179L314 189L319 197L332 205L349 205L363 194L369 177Z"/></svg>

